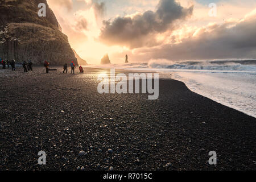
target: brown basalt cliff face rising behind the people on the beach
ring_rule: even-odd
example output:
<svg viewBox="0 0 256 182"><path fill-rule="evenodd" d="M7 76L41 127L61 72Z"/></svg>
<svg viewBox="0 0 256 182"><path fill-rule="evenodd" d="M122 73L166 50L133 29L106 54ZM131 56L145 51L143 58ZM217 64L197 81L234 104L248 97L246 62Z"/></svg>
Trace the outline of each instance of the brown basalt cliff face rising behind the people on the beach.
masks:
<svg viewBox="0 0 256 182"><path fill-rule="evenodd" d="M46 17L38 16L39 3ZM0 57L63 65L77 59L46 0L0 0Z"/></svg>

